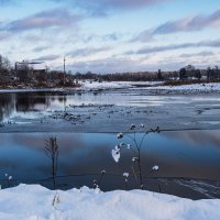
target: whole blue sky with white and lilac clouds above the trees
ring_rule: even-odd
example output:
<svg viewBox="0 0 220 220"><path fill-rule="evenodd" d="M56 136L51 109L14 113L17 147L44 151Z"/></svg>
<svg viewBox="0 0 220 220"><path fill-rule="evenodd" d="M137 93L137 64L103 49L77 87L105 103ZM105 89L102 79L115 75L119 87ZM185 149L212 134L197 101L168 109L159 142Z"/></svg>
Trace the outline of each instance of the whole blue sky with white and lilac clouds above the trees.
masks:
<svg viewBox="0 0 220 220"><path fill-rule="evenodd" d="M0 0L0 54L73 73L220 65L220 0Z"/></svg>

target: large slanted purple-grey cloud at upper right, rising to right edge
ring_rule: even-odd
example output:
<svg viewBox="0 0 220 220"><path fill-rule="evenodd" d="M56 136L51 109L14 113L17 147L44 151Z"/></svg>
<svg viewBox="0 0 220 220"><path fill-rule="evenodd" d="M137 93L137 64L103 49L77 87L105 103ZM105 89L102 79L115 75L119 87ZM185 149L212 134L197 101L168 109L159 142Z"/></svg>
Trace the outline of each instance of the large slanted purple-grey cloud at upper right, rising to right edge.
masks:
<svg viewBox="0 0 220 220"><path fill-rule="evenodd" d="M178 32L196 32L206 28L220 26L220 9L209 15L197 14L176 21L168 21L160 26L140 33L133 41L147 42L155 35L172 34Z"/></svg>

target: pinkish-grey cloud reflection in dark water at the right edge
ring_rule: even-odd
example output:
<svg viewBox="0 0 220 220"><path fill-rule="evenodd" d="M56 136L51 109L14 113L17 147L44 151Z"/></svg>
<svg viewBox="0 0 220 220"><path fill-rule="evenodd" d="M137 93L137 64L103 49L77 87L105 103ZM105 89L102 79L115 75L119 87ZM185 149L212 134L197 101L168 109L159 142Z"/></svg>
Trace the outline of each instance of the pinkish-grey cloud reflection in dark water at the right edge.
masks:
<svg viewBox="0 0 220 220"><path fill-rule="evenodd" d="M186 142L188 145L215 145L220 147L220 131L163 132L168 139Z"/></svg>

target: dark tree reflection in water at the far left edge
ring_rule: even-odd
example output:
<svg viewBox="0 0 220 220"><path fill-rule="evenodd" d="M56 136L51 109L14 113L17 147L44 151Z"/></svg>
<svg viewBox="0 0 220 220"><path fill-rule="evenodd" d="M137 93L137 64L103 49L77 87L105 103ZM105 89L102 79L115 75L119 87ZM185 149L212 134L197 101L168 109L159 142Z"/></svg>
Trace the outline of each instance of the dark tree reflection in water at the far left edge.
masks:
<svg viewBox="0 0 220 220"><path fill-rule="evenodd" d="M14 95L1 94L0 95L0 122L9 118L14 110Z"/></svg>

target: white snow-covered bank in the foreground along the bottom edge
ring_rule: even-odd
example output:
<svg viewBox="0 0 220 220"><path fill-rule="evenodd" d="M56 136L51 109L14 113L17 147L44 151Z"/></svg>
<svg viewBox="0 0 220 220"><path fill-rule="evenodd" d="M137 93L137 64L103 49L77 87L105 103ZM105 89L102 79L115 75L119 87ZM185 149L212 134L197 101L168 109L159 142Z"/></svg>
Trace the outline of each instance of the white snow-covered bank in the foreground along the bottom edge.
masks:
<svg viewBox="0 0 220 220"><path fill-rule="evenodd" d="M219 220L220 200L197 200L143 190L72 189L38 185L0 190L0 220Z"/></svg>

